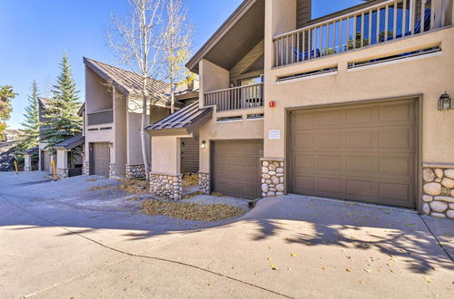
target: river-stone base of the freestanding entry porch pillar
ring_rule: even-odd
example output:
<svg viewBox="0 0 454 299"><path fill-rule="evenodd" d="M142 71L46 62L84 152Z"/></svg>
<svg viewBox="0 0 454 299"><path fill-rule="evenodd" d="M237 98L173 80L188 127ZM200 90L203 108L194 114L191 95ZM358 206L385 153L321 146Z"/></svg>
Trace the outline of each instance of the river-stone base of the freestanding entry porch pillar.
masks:
<svg viewBox="0 0 454 299"><path fill-rule="evenodd" d="M182 199L183 175L170 176L152 173L150 177L150 193L163 198Z"/></svg>

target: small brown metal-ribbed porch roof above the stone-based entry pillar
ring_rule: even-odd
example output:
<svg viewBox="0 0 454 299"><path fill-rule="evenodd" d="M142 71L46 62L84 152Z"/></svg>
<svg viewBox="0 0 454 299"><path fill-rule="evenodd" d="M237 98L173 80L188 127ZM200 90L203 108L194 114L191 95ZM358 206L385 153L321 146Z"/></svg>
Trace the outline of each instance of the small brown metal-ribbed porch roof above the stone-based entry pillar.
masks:
<svg viewBox="0 0 454 299"><path fill-rule="evenodd" d="M189 135L212 119L212 108L199 108L199 102L194 101L181 111L175 112L161 121L148 126L146 130L151 136Z"/></svg>

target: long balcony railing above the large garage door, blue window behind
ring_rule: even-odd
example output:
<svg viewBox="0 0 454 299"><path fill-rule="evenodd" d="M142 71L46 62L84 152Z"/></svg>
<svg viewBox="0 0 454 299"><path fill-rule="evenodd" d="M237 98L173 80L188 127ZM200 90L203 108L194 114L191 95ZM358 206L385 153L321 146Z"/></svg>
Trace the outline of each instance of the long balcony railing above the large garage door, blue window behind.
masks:
<svg viewBox="0 0 454 299"><path fill-rule="evenodd" d="M452 0L390 0L273 38L274 66L421 34L447 24Z"/></svg>

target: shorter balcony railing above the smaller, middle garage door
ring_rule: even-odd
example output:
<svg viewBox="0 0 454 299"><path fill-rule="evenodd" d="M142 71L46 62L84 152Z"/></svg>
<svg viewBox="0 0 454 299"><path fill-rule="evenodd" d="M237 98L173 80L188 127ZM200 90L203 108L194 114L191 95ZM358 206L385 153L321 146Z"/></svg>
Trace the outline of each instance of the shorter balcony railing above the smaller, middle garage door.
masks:
<svg viewBox="0 0 454 299"><path fill-rule="evenodd" d="M206 92L205 106L216 106L217 111L263 107L263 83Z"/></svg>

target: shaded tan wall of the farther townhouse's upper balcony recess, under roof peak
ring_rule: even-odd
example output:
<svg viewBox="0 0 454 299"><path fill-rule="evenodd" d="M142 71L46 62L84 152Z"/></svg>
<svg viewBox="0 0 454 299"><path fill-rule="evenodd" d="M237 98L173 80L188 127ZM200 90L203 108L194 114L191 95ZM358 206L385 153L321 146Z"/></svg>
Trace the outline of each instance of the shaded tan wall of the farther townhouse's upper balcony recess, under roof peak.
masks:
<svg viewBox="0 0 454 299"><path fill-rule="evenodd" d="M85 66L85 109L87 113L113 109L112 87L94 71Z"/></svg>

